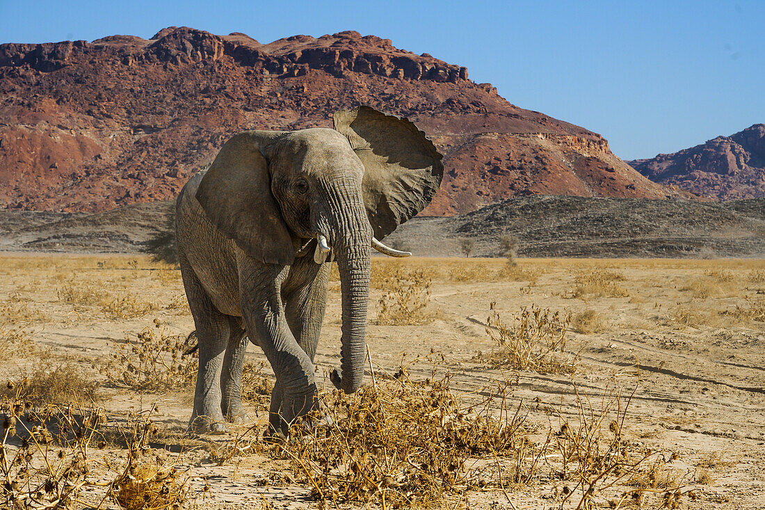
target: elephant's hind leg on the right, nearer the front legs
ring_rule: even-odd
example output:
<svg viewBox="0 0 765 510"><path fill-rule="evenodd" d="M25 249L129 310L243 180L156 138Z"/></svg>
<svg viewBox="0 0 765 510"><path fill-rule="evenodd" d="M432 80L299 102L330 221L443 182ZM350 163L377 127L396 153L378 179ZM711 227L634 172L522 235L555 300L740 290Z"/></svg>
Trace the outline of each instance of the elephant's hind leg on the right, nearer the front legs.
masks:
<svg viewBox="0 0 765 510"><path fill-rule="evenodd" d="M248 423L249 416L242 405L242 369L249 338L242 328L239 317L229 316L229 345L223 357L223 371L220 374L222 400L220 409L223 417L231 423Z"/></svg>

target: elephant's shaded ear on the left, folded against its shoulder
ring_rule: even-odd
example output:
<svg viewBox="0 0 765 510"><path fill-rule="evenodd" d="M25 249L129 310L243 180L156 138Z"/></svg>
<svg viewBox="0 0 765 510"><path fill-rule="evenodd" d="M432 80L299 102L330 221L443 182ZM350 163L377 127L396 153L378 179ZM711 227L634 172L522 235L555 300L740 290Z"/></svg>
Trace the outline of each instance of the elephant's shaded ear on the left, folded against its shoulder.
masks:
<svg viewBox="0 0 765 510"><path fill-rule="evenodd" d="M240 132L229 139L197 189L210 221L250 257L291 264L295 248L271 193L264 145L278 132ZM202 242L203 240L200 240Z"/></svg>

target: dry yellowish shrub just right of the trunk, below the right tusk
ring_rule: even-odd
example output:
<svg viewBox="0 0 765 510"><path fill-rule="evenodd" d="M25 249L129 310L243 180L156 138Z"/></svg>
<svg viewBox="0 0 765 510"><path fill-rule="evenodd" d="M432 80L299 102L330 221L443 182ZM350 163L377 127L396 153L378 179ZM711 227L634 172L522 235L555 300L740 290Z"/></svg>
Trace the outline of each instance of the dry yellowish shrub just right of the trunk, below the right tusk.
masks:
<svg viewBox="0 0 765 510"><path fill-rule="evenodd" d="M430 301L431 278L422 270L396 270L386 277L379 300L376 325L422 325L435 315L425 311Z"/></svg>

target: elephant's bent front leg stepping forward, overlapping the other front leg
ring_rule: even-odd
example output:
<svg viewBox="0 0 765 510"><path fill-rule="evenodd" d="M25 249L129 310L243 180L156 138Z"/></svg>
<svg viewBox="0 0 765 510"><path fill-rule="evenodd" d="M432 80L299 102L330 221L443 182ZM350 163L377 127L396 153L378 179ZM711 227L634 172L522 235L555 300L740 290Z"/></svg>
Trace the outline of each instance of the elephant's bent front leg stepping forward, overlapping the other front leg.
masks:
<svg viewBox="0 0 765 510"><path fill-rule="evenodd" d="M286 424L309 413L316 405L314 364L292 334L282 301L282 283L289 266L261 264L246 258L239 263L242 315L249 338L268 358L282 393Z"/></svg>

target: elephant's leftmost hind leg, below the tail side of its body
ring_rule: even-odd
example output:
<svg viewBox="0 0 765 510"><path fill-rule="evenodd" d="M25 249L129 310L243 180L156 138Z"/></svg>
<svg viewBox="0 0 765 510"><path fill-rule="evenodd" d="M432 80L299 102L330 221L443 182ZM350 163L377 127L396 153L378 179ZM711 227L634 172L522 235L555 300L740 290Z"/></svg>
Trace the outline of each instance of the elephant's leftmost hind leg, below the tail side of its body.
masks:
<svg viewBox="0 0 765 510"><path fill-rule="evenodd" d="M186 258L182 254L179 258L181 276L199 341L199 370L189 430L198 433L225 432L220 407L220 374L229 344L229 319L213 305Z"/></svg>

